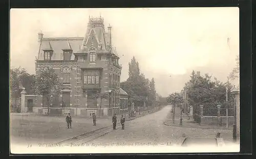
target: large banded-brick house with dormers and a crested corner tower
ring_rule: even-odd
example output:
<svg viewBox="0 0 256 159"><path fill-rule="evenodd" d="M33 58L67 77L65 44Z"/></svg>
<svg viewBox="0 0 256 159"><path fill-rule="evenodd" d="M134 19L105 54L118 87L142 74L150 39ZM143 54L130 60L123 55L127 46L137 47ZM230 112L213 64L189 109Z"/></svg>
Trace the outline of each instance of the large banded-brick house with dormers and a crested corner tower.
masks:
<svg viewBox="0 0 256 159"><path fill-rule="evenodd" d="M89 17L84 37L45 38L38 33L36 74L51 67L62 83L60 96L51 103L51 112L68 111L78 116L99 113L100 99L91 96L100 92L110 95L109 99L102 99L104 116L118 114L120 107L127 109L127 93L120 88L119 57L112 45L112 27L109 25L107 29L106 32L102 17ZM33 112L46 112L47 98L39 96L34 105Z"/></svg>

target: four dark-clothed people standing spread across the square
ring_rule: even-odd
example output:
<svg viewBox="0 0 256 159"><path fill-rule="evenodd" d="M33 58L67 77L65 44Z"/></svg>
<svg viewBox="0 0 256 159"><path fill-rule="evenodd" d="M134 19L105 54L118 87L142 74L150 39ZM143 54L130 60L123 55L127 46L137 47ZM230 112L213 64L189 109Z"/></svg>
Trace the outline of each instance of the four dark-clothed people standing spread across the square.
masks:
<svg viewBox="0 0 256 159"><path fill-rule="evenodd" d="M93 117L93 126L96 126L96 115L95 113L92 114L92 117ZM67 125L68 125L68 128L72 128L72 117L70 115L70 113L68 113L67 117L66 117L66 122L67 122ZM124 122L125 122L125 117L122 115L121 116L121 120L120 120L120 123L122 125L122 129L124 129ZM116 117L116 114L114 114L114 116L112 117L112 123L113 123L113 129L115 130L116 129L116 123L117 123L117 117Z"/></svg>

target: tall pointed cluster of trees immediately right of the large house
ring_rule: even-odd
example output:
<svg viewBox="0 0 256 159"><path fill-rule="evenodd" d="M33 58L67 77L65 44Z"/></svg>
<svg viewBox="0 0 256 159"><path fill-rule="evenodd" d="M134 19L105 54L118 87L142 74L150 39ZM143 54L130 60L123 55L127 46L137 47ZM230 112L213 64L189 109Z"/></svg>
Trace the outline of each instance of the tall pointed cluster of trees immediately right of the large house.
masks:
<svg viewBox="0 0 256 159"><path fill-rule="evenodd" d="M156 104L156 89L154 78L149 80L140 72L139 63L135 57L129 63L129 78L121 82L121 88L129 95L129 105L142 107L145 102L147 107Z"/></svg>

